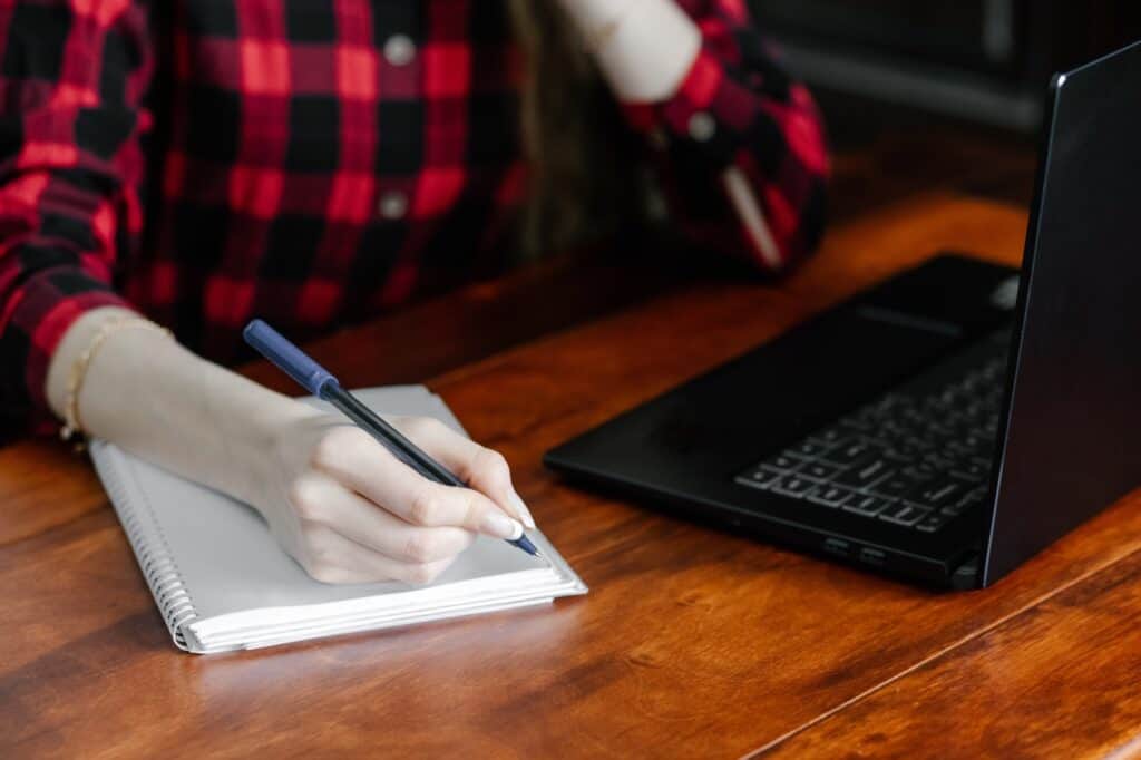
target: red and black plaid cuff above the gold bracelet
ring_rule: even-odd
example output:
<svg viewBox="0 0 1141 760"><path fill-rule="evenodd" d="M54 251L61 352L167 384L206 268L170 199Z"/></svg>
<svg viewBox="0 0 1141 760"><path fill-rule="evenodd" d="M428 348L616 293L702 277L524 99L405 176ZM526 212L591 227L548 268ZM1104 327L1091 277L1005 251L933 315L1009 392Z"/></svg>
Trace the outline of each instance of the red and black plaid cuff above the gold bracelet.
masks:
<svg viewBox="0 0 1141 760"><path fill-rule="evenodd" d="M37 273L21 283L0 313L0 398L38 432L56 427L46 385L51 356L84 313L130 308L111 286L74 267Z"/></svg>

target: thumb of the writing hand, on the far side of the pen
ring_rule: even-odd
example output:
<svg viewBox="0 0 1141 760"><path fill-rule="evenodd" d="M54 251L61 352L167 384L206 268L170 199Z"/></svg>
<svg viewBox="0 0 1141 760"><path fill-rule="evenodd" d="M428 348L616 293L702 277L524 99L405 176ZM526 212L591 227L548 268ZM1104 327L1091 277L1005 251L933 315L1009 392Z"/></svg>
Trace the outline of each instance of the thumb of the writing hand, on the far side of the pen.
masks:
<svg viewBox="0 0 1141 760"><path fill-rule="evenodd" d="M461 480L489 496L527 527L535 527L535 519L516 492L511 470L501 453L480 446L432 418L405 417L393 423Z"/></svg>

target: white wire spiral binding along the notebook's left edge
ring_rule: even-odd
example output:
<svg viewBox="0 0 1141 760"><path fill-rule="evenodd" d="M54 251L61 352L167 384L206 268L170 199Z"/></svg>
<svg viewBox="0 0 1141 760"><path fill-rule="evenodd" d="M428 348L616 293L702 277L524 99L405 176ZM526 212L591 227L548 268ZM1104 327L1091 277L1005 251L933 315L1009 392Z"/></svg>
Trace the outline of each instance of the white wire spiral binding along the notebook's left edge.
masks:
<svg viewBox="0 0 1141 760"><path fill-rule="evenodd" d="M96 455L97 452L99 455ZM91 454L95 469L107 490L107 495L111 496L112 506L119 514L119 522L135 551L135 558L159 605L159 611L167 622L167 628L170 629L175 645L179 649L189 650L183 625L197 618L199 614L194 600L183 585L183 576L170 553L162 528L154 519L151 502L141 491L136 494L136 499L128 495L127 478L123 475L131 463L118 448L99 440L92 443ZM116 467L108 466L111 460L115 460ZM143 504L144 509L137 509L135 504Z"/></svg>

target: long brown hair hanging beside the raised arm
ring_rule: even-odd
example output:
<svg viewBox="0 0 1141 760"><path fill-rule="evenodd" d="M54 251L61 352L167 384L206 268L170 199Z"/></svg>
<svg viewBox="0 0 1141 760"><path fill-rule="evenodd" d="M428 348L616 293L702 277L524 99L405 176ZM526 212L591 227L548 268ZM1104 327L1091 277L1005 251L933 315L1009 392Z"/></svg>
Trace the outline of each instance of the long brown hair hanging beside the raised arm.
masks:
<svg viewBox="0 0 1141 760"><path fill-rule="evenodd" d="M640 193L629 132L574 22L553 0L509 0L509 8L526 66L521 249L533 258L613 233Z"/></svg>

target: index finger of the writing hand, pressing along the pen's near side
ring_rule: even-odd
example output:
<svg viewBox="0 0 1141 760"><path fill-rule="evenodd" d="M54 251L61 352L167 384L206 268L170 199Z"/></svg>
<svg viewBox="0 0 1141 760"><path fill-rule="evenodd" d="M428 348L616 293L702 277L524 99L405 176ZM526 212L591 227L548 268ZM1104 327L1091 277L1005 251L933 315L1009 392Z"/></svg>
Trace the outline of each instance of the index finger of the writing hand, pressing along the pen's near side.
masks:
<svg viewBox="0 0 1141 760"><path fill-rule="evenodd" d="M357 428L331 430L313 460L322 472L412 525L462 527L496 539L523 535L523 525L484 494L420 477Z"/></svg>

